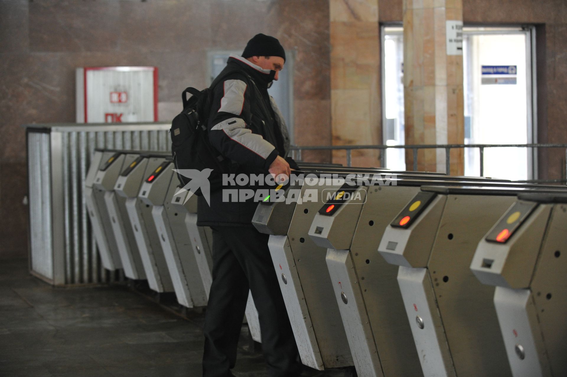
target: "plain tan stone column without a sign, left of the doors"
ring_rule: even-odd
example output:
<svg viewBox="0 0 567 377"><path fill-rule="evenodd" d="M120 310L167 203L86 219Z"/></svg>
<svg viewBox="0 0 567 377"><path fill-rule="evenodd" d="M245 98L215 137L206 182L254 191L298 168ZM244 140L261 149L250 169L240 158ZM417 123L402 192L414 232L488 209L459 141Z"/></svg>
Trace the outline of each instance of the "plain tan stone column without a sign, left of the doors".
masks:
<svg viewBox="0 0 567 377"><path fill-rule="evenodd" d="M382 141L378 0L329 0L333 145ZM345 163L345 152L333 153ZM353 151L353 166L379 166L375 151Z"/></svg>

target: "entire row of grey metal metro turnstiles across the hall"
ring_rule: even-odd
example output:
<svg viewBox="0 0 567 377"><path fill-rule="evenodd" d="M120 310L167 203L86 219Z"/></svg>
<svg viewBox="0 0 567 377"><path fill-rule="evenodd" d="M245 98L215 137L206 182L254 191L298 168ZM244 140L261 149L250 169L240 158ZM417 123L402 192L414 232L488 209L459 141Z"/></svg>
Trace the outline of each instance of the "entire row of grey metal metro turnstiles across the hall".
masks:
<svg viewBox="0 0 567 377"><path fill-rule="evenodd" d="M252 222L270 235L305 365L567 375L567 189L299 166ZM173 168L164 153L97 150L85 182L92 230L105 268L206 306L211 233ZM252 295L246 317L260 341Z"/></svg>

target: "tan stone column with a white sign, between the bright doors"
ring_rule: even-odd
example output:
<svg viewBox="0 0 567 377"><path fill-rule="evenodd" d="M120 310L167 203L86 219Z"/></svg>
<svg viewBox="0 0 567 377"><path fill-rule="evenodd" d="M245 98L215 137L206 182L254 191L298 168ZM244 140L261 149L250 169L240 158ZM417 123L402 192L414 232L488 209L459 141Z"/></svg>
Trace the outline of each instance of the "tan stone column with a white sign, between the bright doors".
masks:
<svg viewBox="0 0 567 377"><path fill-rule="evenodd" d="M403 1L405 143L462 144L463 1ZM420 150L417 160L420 171L446 170L445 150ZM406 164L413 167L411 150ZM451 174L463 171L463 150L452 150Z"/></svg>

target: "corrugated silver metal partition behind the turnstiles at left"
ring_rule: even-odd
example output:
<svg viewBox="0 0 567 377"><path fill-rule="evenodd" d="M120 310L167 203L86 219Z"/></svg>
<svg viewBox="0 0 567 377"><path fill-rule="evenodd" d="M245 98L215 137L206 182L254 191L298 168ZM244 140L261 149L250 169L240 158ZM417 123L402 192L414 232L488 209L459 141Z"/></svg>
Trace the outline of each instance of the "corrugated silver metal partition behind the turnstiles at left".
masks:
<svg viewBox="0 0 567 377"><path fill-rule="evenodd" d="M102 268L83 197L96 148L171 150L170 124L27 125L30 269L53 285L123 278Z"/></svg>

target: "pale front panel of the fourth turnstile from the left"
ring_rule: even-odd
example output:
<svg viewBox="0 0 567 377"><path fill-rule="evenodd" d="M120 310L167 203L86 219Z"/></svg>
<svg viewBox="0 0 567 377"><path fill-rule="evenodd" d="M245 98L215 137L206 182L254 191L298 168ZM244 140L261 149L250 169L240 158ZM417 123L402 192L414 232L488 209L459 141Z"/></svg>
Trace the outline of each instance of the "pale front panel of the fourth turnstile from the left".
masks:
<svg viewBox="0 0 567 377"><path fill-rule="evenodd" d="M179 254L164 206L154 206L151 210L151 215L154 218L155 228L159 235L163 257L166 260L177 302L184 307L192 308L193 299L189 291L187 278L185 278L183 266L181 266L181 261L179 260Z"/></svg>

